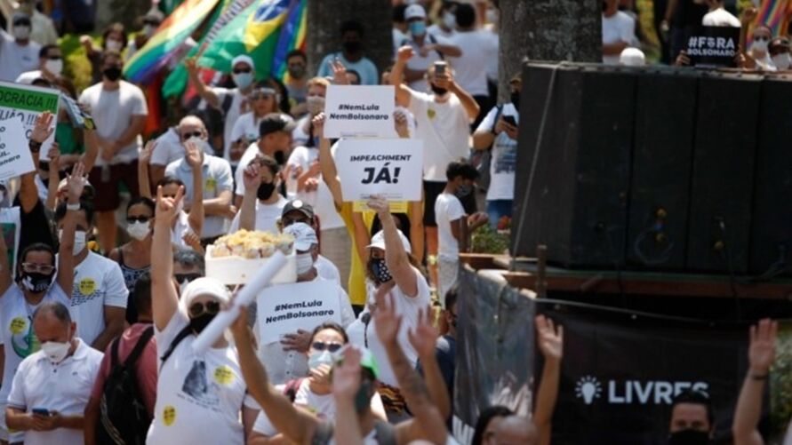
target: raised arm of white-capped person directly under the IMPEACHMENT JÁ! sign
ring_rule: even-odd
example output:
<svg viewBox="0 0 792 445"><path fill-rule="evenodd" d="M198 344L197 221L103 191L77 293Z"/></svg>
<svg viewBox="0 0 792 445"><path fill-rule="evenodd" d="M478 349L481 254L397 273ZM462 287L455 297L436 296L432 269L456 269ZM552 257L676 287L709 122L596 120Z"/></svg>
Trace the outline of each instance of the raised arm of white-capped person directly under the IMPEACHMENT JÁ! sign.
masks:
<svg viewBox="0 0 792 445"><path fill-rule="evenodd" d="M385 264L388 265L388 271L393 275L396 286L408 297L417 296L418 277L407 258L407 251L404 250L396 221L390 214L388 202L378 197L369 201L368 206L380 216L382 232L385 234Z"/></svg>

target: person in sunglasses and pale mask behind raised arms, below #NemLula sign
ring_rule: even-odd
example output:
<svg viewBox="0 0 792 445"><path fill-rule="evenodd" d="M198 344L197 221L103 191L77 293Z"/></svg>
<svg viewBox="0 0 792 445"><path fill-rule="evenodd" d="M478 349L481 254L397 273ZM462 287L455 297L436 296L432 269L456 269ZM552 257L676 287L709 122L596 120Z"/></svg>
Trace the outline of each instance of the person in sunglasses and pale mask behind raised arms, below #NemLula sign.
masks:
<svg viewBox="0 0 792 445"><path fill-rule="evenodd" d="M308 377L289 380L284 385L276 385L276 391L288 397L294 406L316 413L317 417L332 422L335 418L335 401L332 397L332 367L340 357L341 349L347 346L349 338L339 324L324 322L311 333L310 349L308 349ZM371 398L371 409L374 417L387 421L385 408L382 407L380 394L374 392ZM248 438L250 445L263 445L271 441L283 441L283 434L278 433L270 422L267 413L260 411L253 432Z"/></svg>

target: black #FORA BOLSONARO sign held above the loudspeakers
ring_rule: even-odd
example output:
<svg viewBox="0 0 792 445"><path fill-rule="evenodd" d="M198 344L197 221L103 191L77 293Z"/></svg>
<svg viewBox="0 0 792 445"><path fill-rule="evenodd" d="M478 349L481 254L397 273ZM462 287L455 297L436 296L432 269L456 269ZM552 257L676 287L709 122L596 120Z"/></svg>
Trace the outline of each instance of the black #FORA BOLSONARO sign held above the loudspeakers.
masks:
<svg viewBox="0 0 792 445"><path fill-rule="evenodd" d="M740 44L740 28L700 27L687 41L691 66L700 68L734 68Z"/></svg>

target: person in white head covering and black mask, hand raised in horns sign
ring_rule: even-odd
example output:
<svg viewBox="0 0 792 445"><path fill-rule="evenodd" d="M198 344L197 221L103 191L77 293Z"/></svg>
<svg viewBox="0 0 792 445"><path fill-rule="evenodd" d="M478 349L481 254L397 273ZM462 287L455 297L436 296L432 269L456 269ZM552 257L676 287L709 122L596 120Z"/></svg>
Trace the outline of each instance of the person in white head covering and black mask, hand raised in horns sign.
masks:
<svg viewBox="0 0 792 445"><path fill-rule="evenodd" d="M151 295L159 377L147 442L242 445L257 412L246 395L236 346L220 336L205 352L192 348L231 294L220 281L204 277L190 282L179 298L173 283L171 226L183 197L184 187L173 197L157 187Z"/></svg>

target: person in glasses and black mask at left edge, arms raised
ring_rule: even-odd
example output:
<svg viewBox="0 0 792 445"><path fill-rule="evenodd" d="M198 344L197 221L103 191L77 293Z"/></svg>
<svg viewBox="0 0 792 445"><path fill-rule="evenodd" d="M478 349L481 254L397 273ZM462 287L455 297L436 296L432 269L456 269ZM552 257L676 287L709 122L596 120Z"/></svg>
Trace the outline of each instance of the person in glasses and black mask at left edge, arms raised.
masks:
<svg viewBox="0 0 792 445"><path fill-rule="evenodd" d="M15 268L9 263L6 235L0 236L0 329L4 338L4 370L0 387L0 440L17 443L24 440L21 432L10 433L5 424L5 403L11 392L11 382L20 362L40 348L33 330L33 313L46 302L60 302L70 306L70 290L74 280L76 213L83 191L82 178L77 175L68 181L68 203L71 209L63 220L60 255L48 244L34 243L22 250ZM13 239L13 238L12 238ZM57 264L57 267L56 267ZM12 271L15 271L12 276Z"/></svg>

